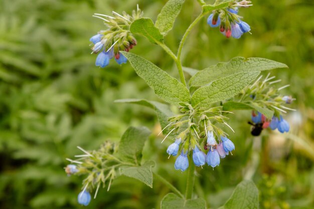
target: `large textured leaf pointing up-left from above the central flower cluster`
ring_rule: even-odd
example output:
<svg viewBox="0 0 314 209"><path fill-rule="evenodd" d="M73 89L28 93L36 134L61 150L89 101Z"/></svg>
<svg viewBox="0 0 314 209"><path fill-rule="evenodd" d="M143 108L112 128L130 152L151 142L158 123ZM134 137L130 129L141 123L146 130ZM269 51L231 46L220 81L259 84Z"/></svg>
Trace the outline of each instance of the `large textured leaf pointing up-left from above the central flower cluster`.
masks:
<svg viewBox="0 0 314 209"><path fill-rule="evenodd" d="M131 63L137 75L144 79L160 98L174 105L178 105L179 102L190 102L189 90L177 79L144 58L132 53L121 53Z"/></svg>

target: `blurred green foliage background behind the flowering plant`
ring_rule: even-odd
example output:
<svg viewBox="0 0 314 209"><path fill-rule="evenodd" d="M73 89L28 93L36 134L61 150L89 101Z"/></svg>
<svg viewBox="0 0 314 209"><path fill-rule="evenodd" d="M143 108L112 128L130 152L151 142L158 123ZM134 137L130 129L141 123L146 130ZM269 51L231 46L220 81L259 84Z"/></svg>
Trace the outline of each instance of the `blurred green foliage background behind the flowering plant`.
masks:
<svg viewBox="0 0 314 209"><path fill-rule="evenodd" d="M156 137L160 126L154 112L115 99L158 100L129 64L114 61L94 66L89 38L103 30L93 13L130 13L136 4L153 20L166 0L0 0L0 208L77 208L82 178L67 177L65 158L79 154L76 146L97 149L105 140L118 141L129 125L145 125L153 134L144 159L185 188L185 175L167 160L167 146ZM212 2L208 2L212 3ZM222 205L244 178L260 189L260 208L314 208L314 2L253 1L239 14L252 35L226 39L202 20L190 34L183 53L187 67L203 69L235 56L264 57L285 63L273 70L278 87L296 101L287 114L291 131L263 131L252 137L250 111L238 111L230 124L236 131L233 156L213 171L197 169L195 193L208 208ZM196 1L187 0L165 42L174 51L189 23L198 15ZM176 67L159 46L137 37L132 50L178 78ZM137 180L118 177L110 191L101 189L86 208L159 208L169 190L155 181L153 189Z"/></svg>

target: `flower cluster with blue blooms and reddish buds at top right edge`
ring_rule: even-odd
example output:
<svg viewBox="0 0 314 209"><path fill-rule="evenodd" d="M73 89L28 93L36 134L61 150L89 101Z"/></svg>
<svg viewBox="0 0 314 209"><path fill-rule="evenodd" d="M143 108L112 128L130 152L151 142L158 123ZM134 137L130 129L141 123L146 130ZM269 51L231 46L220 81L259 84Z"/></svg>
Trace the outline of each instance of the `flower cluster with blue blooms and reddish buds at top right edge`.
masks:
<svg viewBox="0 0 314 209"><path fill-rule="evenodd" d="M219 27L220 32L230 38L239 39L251 30L250 26L238 15L239 7L248 7L250 1L242 1L226 9L214 10L208 17L207 24L212 28Z"/></svg>

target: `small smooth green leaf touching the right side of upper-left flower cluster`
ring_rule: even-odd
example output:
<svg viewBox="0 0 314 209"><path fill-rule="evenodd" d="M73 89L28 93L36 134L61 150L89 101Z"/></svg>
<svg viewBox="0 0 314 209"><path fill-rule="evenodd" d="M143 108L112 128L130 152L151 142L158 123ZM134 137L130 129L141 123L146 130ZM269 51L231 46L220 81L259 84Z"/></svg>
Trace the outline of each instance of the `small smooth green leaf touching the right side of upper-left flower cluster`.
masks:
<svg viewBox="0 0 314 209"><path fill-rule="evenodd" d="M158 28L156 28L152 20L149 18L140 18L130 25L130 31L133 34L139 34L146 37L151 43L158 43L164 40Z"/></svg>

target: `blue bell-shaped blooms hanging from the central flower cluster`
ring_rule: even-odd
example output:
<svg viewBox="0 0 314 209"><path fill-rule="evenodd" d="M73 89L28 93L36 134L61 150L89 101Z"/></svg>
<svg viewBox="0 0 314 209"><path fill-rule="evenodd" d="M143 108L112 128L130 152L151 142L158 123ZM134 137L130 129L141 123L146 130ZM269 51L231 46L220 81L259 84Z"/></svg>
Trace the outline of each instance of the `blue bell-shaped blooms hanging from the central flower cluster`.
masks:
<svg viewBox="0 0 314 209"><path fill-rule="evenodd" d="M168 149L167 153L169 155L176 156L179 151L179 146L181 143L181 138L176 139ZM207 132L207 144L204 147L208 149L208 153L205 154L199 149L197 145L193 149L193 162L196 166L202 166L205 162L212 166L213 168L220 164L220 158L225 158L232 150L235 149L233 142L225 136L221 136L219 143L217 144L216 139L212 131ZM189 167L188 151L181 151L180 156L175 162L175 168L177 170L185 171Z"/></svg>

